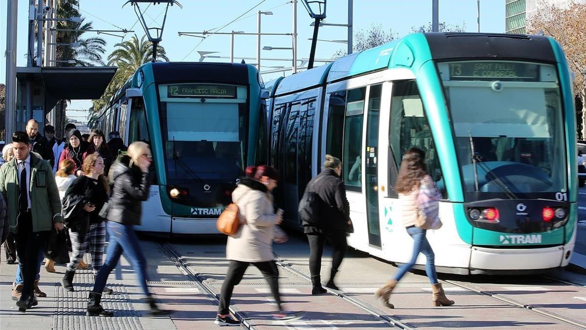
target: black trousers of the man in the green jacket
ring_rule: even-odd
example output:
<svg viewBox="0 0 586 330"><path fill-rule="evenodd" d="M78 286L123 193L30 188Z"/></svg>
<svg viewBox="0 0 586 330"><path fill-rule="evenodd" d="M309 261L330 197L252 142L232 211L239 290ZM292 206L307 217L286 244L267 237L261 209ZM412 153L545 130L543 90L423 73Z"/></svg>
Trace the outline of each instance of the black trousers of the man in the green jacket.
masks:
<svg viewBox="0 0 586 330"><path fill-rule="evenodd" d="M18 228L15 235L18 265L21 268L23 288L22 298L32 295L33 284L39 268L39 251L45 248L48 231L33 233L30 211L18 215Z"/></svg>

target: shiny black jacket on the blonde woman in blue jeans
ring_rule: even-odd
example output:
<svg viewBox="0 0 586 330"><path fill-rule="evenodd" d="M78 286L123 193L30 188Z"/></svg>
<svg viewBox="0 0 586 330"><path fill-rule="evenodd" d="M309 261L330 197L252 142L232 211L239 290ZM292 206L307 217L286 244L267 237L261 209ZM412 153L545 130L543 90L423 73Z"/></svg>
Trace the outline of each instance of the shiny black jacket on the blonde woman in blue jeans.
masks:
<svg viewBox="0 0 586 330"><path fill-rule="evenodd" d="M138 166L130 166L130 156L127 155L118 157L110 172L114 187L108 201L108 221L140 225L141 201L148 199L150 191L148 173L143 173Z"/></svg>

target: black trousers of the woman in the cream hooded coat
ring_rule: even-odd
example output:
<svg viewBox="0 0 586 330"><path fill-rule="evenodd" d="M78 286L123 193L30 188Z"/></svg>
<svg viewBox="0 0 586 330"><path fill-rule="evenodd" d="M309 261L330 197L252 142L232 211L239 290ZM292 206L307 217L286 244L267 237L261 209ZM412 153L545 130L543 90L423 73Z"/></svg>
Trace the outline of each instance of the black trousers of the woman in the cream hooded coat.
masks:
<svg viewBox="0 0 586 330"><path fill-rule="evenodd" d="M232 298L232 291L234 287L240 283L244 272L248 268L248 265L253 264L261 273L263 273L264 279L267 280L268 286L271 288L272 297L277 302L277 307L281 310L281 295L279 294L279 270L277 264L274 261L263 261L263 262L244 262L230 260L230 267L228 267L228 273L224 284L222 284L222 291L220 292L220 305L218 306L218 314L226 315L229 314L230 298Z"/></svg>

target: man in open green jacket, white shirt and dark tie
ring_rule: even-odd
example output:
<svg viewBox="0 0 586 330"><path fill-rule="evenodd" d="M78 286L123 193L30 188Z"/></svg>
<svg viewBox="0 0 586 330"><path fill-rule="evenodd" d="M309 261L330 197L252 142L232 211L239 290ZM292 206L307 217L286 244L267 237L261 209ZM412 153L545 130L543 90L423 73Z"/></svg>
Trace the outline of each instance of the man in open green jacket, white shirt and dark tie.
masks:
<svg viewBox="0 0 586 330"><path fill-rule="evenodd" d="M12 135L14 159L0 168L0 193L8 205L8 222L15 234L16 253L23 277L19 311L36 305L33 285L39 251L45 248L49 231L63 230L59 190L53 169L46 160L30 152L25 132Z"/></svg>

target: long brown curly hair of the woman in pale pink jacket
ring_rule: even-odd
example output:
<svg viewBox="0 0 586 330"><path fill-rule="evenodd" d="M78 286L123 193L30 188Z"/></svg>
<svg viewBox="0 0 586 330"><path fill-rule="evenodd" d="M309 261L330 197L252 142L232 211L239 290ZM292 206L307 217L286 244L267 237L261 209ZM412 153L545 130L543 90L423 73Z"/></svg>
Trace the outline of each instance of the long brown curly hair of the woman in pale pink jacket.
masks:
<svg viewBox="0 0 586 330"><path fill-rule="evenodd" d="M401 161L401 167L395 185L395 191L408 194L418 189L421 179L427 174L425 169L425 151L418 148L407 150Z"/></svg>

